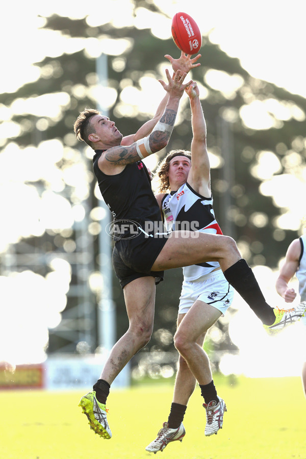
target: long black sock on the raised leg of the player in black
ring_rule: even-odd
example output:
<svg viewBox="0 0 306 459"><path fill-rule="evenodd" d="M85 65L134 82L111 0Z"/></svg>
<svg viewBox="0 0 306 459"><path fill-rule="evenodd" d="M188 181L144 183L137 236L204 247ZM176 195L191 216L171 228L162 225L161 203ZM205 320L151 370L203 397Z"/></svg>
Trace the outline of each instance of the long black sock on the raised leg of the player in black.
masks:
<svg viewBox="0 0 306 459"><path fill-rule="evenodd" d="M265 325L272 325L275 322L273 309L266 303L253 271L245 260L239 260L226 269L223 274L226 281L237 290Z"/></svg>

